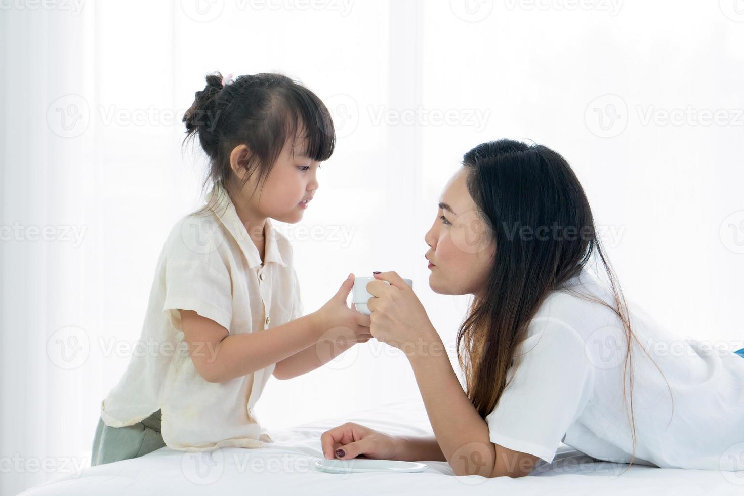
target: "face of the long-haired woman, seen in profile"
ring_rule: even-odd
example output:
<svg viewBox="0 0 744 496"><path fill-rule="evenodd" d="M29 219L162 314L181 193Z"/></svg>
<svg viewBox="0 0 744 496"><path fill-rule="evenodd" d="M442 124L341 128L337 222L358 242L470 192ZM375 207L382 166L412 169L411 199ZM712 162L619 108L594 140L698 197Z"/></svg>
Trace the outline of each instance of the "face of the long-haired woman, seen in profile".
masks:
<svg viewBox="0 0 744 496"><path fill-rule="evenodd" d="M440 294L481 294L496 257L496 242L475 206L461 167L444 187L434 225L424 236L429 286Z"/></svg>

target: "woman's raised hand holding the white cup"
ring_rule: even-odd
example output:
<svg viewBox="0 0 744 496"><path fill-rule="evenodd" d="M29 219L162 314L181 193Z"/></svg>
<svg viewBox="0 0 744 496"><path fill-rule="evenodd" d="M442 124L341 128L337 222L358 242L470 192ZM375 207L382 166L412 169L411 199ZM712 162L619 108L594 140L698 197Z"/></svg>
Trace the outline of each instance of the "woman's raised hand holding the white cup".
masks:
<svg viewBox="0 0 744 496"><path fill-rule="evenodd" d="M394 271L374 277L376 280L367 285L367 291L373 295L367 301L372 337L409 357L430 351L426 347L439 337L414 290ZM390 286L382 281L388 281Z"/></svg>

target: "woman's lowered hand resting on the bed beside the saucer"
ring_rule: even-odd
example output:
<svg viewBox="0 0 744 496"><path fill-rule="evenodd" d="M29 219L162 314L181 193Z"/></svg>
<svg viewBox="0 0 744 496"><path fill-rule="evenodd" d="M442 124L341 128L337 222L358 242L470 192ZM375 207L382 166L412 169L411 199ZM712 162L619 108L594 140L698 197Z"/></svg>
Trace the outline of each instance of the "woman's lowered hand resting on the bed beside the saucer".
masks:
<svg viewBox="0 0 744 496"><path fill-rule="evenodd" d="M350 460L360 455L375 460L395 460L397 445L397 438L353 422L321 434L323 454L328 460Z"/></svg>

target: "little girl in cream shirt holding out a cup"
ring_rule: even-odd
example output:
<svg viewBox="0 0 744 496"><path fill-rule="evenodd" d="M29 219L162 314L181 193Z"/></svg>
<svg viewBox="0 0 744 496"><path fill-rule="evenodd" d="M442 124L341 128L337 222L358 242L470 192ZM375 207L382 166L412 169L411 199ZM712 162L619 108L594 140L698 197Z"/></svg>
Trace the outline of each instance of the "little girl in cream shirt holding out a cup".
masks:
<svg viewBox="0 0 744 496"><path fill-rule="evenodd" d="M103 400L92 465L164 445L262 447L272 439L253 409L269 376L307 373L371 337L346 304L352 274L303 315L292 247L270 220L300 221L315 196L335 144L326 107L280 74L206 80L183 120L210 158L208 203L161 251L143 352Z"/></svg>

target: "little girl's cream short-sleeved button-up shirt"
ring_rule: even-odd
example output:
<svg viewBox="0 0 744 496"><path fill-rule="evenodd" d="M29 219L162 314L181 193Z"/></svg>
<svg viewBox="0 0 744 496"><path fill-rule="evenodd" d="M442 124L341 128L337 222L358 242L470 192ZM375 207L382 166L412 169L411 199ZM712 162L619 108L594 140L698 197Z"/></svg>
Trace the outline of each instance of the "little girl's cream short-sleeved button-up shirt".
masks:
<svg viewBox="0 0 744 496"><path fill-rule="evenodd" d="M215 194L219 203L208 216L192 213L170 231L138 347L101 404L101 418L112 427L162 410L165 444L184 451L273 442L253 408L275 366L230 381L205 381L191 361L179 309L210 318L230 334L261 332L303 315L289 240L266 219L262 265L225 189L217 186L210 196Z"/></svg>

